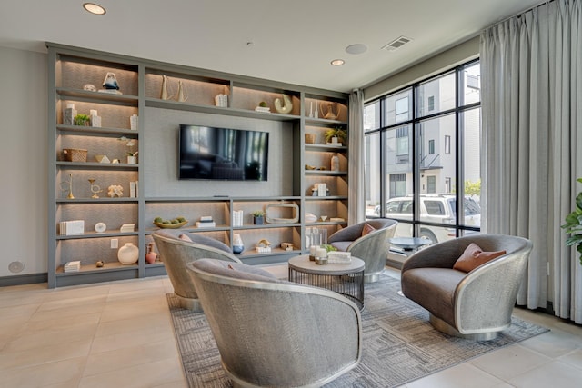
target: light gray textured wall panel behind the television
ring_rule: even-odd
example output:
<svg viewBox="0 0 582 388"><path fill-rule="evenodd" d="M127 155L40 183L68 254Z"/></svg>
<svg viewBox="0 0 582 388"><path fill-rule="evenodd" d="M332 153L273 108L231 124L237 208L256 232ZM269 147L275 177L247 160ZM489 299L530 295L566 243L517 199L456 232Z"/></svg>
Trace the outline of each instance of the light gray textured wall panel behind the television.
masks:
<svg viewBox="0 0 582 388"><path fill-rule="evenodd" d="M253 118L183 112L147 107L145 134L140 134L140 164L145 195L152 197L280 196L293 194L293 127L291 123ZM180 124L265 131L269 133L268 178L264 182L179 181L178 131Z"/></svg>

